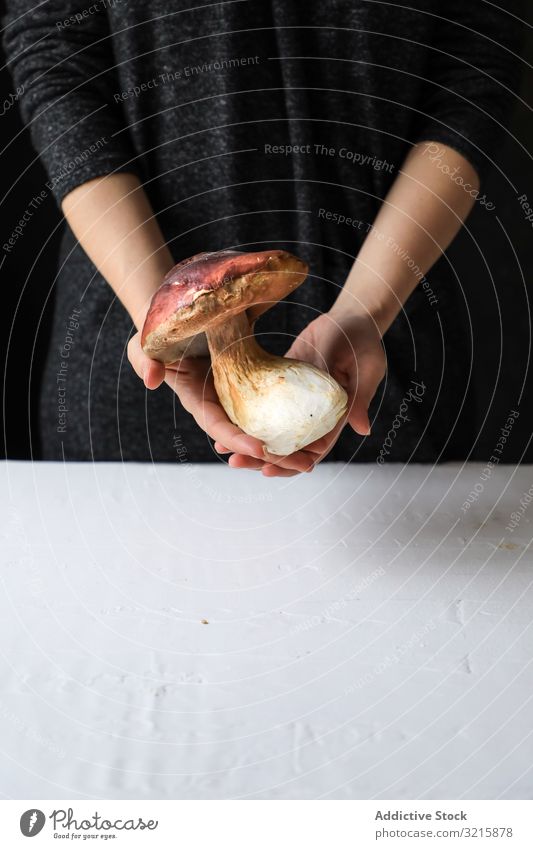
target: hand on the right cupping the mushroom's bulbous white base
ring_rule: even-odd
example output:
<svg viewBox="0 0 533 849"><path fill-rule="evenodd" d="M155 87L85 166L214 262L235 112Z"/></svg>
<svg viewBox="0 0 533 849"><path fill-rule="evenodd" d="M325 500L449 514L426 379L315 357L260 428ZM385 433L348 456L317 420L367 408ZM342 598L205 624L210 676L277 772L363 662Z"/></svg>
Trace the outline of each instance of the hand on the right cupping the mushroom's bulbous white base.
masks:
<svg viewBox="0 0 533 849"><path fill-rule="evenodd" d="M300 333L286 356L329 371L348 393L346 416L330 433L305 447L305 453L311 456L314 467L331 451L347 422L361 436L370 433L368 407L385 375L385 352L371 316L344 310L341 312L334 307ZM221 444L215 444L215 448L218 451L225 450ZM298 473L295 467L291 470L292 458L295 456L292 454L285 458L284 476ZM239 468L254 467L253 458L244 454L234 454L231 459L232 465ZM270 463L264 463L262 471L269 477L280 475L280 470Z"/></svg>

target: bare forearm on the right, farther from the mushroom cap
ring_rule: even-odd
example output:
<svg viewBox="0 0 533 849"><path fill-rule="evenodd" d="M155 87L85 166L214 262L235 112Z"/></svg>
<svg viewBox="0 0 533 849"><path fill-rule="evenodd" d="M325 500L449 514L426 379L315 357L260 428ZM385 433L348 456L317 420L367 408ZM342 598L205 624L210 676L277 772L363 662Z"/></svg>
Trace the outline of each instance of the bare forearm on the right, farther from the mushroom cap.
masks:
<svg viewBox="0 0 533 849"><path fill-rule="evenodd" d="M406 158L332 310L368 312L381 334L460 230L479 189L461 154L439 145L437 161L429 144Z"/></svg>

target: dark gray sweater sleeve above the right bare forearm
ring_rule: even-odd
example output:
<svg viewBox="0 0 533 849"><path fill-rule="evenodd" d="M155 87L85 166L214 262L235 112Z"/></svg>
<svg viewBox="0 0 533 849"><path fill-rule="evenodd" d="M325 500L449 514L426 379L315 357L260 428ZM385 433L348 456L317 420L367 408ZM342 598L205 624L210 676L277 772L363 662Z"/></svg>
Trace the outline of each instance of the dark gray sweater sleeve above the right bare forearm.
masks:
<svg viewBox="0 0 533 849"><path fill-rule="evenodd" d="M520 82L522 0L446 0L434 22L415 140L463 154L481 179L490 168Z"/></svg>

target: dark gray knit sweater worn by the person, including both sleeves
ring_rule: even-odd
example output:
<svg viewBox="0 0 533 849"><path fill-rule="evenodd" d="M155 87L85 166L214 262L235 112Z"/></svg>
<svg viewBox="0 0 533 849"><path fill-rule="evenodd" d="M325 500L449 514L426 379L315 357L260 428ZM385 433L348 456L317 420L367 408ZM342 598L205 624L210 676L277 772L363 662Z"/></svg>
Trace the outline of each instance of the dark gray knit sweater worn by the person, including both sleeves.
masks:
<svg viewBox="0 0 533 849"><path fill-rule="evenodd" d="M310 263L259 326L282 352L331 305L413 143L451 145L482 178L494 164L517 85L520 5L8 0L4 41L58 200L132 171L176 261L272 245ZM213 459L168 387L148 396L131 372L131 321L68 229L56 290L44 456L176 460L181 440L187 459ZM386 459L445 452L467 371L460 306L443 260L387 335L372 437L346 431L332 459L375 458L384 443ZM412 380L422 401L392 439Z"/></svg>

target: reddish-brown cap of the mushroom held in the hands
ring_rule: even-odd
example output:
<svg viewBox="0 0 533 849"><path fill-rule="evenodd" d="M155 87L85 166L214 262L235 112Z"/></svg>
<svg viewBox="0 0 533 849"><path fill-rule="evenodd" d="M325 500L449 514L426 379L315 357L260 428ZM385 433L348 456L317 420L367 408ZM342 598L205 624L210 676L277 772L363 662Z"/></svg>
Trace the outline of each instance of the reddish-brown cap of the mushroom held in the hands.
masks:
<svg viewBox="0 0 533 849"><path fill-rule="evenodd" d="M198 334L244 310L252 323L306 275L306 263L287 251L216 251L185 259L168 272L152 298L143 350L164 363L184 353L207 353L198 345Z"/></svg>

